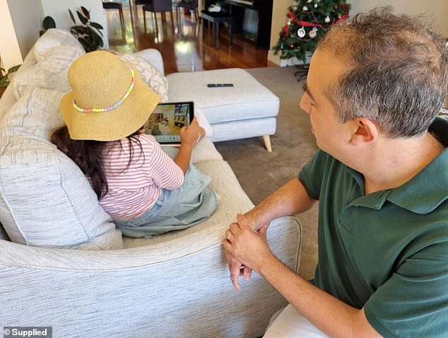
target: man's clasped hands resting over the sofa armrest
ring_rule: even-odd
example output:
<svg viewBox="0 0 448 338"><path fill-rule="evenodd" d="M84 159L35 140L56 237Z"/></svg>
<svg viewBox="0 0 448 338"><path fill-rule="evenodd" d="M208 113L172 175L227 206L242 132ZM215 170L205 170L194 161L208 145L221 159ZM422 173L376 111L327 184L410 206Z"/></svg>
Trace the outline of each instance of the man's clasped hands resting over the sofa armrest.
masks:
<svg viewBox="0 0 448 338"><path fill-rule="evenodd" d="M252 269L258 271L266 257L273 256L266 232L267 226L263 226L258 232L254 231L242 214L238 214L237 223L230 224L230 228L225 231L226 238L223 240L225 257L230 269L230 279L236 289L240 290L238 276L250 279Z"/></svg>

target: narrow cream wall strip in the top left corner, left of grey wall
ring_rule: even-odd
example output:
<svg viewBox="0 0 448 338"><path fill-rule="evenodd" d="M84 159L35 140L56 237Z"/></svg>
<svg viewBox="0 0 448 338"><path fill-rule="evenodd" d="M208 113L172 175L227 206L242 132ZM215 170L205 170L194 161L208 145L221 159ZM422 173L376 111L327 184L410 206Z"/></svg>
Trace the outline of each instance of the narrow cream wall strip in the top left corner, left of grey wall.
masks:
<svg viewBox="0 0 448 338"><path fill-rule="evenodd" d="M0 0L0 57L1 68L6 70L23 61L6 0Z"/></svg>

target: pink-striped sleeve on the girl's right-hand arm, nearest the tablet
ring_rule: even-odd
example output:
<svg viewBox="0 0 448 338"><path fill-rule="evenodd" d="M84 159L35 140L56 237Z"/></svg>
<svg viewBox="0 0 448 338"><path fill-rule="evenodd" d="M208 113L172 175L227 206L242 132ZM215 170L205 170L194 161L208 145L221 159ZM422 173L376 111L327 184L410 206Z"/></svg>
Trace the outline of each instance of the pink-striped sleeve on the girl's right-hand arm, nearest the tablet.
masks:
<svg viewBox="0 0 448 338"><path fill-rule="evenodd" d="M148 136L151 139L152 136ZM184 182L184 172L170 158L170 156L163 151L160 144L155 139L153 141L152 153L148 156L148 165L151 166L153 175L153 182L162 189L175 190Z"/></svg>

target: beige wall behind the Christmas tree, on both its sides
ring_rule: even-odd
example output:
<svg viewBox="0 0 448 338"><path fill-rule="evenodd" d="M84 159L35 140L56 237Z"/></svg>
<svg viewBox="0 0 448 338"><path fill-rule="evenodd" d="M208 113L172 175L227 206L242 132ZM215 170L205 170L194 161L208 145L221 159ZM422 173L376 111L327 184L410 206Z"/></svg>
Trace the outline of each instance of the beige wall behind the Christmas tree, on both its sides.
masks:
<svg viewBox="0 0 448 338"><path fill-rule="evenodd" d="M348 0L350 4L350 16L356 13L365 12L376 6L389 5L395 8L396 13L408 13L415 15L425 13L431 18L437 31L448 37L448 1L447 0ZM286 13L288 7L294 4L294 0L274 0L272 25L271 25L271 47L278 41L278 33L286 23ZM271 50L268 60L275 64L280 64L280 58L274 56Z"/></svg>

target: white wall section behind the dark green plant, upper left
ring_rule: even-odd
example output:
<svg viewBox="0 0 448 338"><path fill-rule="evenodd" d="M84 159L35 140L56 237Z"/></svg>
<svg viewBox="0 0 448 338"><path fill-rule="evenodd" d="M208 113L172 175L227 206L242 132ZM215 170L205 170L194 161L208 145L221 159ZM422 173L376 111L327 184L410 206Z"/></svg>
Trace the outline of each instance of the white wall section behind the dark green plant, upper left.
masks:
<svg viewBox="0 0 448 338"><path fill-rule="evenodd" d="M14 0L16 1L16 0ZM28 0L30 1L30 0ZM34 1L34 0L33 0ZM102 8L102 0L40 0L42 2L42 8L44 10L44 16L51 16L56 21L56 27L68 30L72 25L69 8L75 16L76 23L79 24L76 11L81 11L81 6L90 9L90 21L99 23L104 28L102 30L102 40L104 46L102 48L109 48L109 42L107 41L107 21L105 11ZM43 17L42 17L43 20Z"/></svg>

